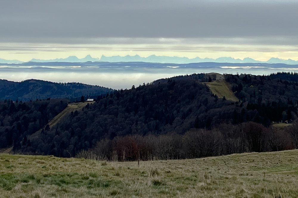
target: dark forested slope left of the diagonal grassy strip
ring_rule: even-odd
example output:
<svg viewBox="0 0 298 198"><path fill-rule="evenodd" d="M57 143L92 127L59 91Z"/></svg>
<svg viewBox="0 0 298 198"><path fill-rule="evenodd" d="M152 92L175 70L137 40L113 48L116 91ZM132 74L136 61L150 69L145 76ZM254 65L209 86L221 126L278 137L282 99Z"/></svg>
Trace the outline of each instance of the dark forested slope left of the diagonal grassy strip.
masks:
<svg viewBox="0 0 298 198"><path fill-rule="evenodd" d="M27 137L44 127L67 103L66 99L0 101L0 148L30 145Z"/></svg>

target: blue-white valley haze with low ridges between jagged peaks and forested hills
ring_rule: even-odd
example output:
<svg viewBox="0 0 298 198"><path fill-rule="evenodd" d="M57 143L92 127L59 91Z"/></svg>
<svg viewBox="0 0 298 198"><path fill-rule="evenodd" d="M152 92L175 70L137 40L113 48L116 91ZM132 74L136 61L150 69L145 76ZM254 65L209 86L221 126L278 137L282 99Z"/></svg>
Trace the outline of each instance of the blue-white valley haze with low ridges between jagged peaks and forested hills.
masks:
<svg viewBox="0 0 298 198"><path fill-rule="evenodd" d="M154 63L154 62L25 62L0 64L0 79L39 79L53 82L80 82L113 89L131 88L160 78L193 73L246 73L268 75L297 72L298 64L282 63Z"/></svg>

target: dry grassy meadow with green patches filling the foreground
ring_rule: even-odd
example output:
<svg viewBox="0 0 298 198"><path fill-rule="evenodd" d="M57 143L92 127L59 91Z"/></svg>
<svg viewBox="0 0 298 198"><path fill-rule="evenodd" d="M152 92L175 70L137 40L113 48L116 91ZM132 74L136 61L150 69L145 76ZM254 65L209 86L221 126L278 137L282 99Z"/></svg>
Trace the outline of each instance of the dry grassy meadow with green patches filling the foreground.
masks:
<svg viewBox="0 0 298 198"><path fill-rule="evenodd" d="M298 197L298 150L105 162L0 154L0 197Z"/></svg>

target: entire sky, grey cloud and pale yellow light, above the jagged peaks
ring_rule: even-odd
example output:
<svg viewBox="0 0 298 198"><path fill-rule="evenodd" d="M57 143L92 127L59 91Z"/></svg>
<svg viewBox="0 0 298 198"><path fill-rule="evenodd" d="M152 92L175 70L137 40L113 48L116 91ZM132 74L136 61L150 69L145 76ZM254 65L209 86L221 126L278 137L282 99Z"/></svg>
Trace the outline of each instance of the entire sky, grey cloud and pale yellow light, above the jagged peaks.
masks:
<svg viewBox="0 0 298 198"><path fill-rule="evenodd" d="M298 60L298 1L1 0L0 58Z"/></svg>

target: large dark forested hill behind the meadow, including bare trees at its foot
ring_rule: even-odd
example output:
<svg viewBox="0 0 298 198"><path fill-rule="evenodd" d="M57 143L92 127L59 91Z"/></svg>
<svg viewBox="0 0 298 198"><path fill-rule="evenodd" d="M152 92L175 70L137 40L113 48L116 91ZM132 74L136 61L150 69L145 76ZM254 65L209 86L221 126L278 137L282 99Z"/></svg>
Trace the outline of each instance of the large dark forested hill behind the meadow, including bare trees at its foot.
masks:
<svg viewBox="0 0 298 198"><path fill-rule="evenodd" d="M23 134L14 149L65 157L92 149L108 159L116 151L121 160L136 159L140 153L146 160L298 147L298 134L270 127L272 122L297 119L297 74L219 77L239 101L212 94L204 82L214 82L213 75L161 79L98 96L94 104L66 115L52 128ZM7 116L1 123L13 123L4 122ZM298 131L296 126L292 132Z"/></svg>

